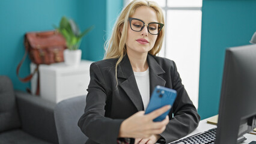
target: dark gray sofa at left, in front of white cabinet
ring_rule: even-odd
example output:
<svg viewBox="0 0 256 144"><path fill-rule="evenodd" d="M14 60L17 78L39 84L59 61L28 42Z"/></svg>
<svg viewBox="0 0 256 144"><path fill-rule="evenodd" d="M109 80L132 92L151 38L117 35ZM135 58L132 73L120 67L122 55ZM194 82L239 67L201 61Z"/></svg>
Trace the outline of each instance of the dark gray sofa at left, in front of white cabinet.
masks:
<svg viewBox="0 0 256 144"><path fill-rule="evenodd" d="M0 76L0 144L58 143L56 104L26 92L14 91L7 76Z"/></svg>

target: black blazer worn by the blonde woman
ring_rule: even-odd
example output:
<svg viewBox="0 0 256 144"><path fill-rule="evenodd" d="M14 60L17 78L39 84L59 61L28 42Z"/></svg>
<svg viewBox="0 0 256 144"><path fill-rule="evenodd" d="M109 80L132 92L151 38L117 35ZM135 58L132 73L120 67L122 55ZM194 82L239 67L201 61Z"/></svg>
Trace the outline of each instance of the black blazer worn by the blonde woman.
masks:
<svg viewBox="0 0 256 144"><path fill-rule="evenodd" d="M124 56L118 65L118 85L116 62L117 59L105 59L91 64L85 113L78 122L82 132L89 137L86 143L117 143L121 122L144 110L128 56ZM150 94L156 85L177 91L177 98L169 113L169 124L160 134L169 143L195 130L200 116L181 83L174 61L148 54L147 62Z"/></svg>

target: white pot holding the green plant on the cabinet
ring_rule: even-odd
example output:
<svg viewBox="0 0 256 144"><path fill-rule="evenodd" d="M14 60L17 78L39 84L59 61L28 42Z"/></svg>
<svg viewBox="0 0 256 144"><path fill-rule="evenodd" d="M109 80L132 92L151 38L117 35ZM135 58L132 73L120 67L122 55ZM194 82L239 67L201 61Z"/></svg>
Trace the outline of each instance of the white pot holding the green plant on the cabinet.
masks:
<svg viewBox="0 0 256 144"><path fill-rule="evenodd" d="M64 62L66 65L79 65L81 62L82 50L64 50Z"/></svg>

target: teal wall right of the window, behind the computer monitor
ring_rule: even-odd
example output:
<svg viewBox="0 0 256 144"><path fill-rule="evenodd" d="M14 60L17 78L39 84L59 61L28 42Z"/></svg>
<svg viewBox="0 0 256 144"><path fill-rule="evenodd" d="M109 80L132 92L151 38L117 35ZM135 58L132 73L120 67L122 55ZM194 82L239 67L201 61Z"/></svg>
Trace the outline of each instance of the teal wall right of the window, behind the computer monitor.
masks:
<svg viewBox="0 0 256 144"><path fill-rule="evenodd" d="M204 0L200 86L201 118L218 114L225 49L249 44L256 31L256 1Z"/></svg>

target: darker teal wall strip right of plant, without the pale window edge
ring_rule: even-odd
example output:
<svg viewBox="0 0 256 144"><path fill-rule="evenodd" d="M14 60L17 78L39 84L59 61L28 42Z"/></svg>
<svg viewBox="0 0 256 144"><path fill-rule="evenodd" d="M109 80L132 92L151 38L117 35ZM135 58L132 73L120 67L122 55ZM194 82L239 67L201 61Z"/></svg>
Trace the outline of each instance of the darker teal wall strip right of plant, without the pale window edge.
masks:
<svg viewBox="0 0 256 144"><path fill-rule="evenodd" d="M103 44L105 41L103 36L106 34L106 1L79 0L78 10L82 30L94 25L94 29L82 40L82 58L98 61L104 55Z"/></svg>

